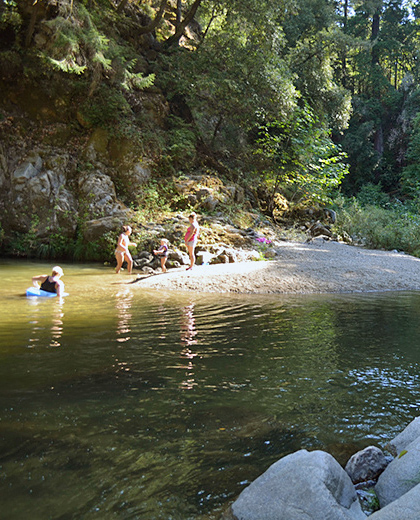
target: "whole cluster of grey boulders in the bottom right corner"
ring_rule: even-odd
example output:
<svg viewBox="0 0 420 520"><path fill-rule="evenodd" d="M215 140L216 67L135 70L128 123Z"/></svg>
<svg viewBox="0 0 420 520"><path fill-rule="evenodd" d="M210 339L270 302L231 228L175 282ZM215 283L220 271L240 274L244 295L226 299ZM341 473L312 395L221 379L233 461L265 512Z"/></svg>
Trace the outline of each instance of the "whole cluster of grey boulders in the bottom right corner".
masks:
<svg viewBox="0 0 420 520"><path fill-rule="evenodd" d="M222 520L419 520L420 417L385 449L390 455L365 448L345 469L323 451L287 455L245 488ZM369 486L379 505L372 514L356 491Z"/></svg>

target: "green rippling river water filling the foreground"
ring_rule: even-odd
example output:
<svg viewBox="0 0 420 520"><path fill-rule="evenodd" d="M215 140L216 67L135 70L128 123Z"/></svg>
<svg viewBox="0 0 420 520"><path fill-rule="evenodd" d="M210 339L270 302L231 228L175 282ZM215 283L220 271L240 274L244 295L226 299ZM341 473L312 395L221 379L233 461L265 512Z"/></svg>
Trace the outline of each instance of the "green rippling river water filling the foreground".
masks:
<svg viewBox="0 0 420 520"><path fill-rule="evenodd" d="M344 464L418 415L420 293L244 296L143 289L0 262L5 520L210 520L270 464ZM199 267L197 267L199 269Z"/></svg>

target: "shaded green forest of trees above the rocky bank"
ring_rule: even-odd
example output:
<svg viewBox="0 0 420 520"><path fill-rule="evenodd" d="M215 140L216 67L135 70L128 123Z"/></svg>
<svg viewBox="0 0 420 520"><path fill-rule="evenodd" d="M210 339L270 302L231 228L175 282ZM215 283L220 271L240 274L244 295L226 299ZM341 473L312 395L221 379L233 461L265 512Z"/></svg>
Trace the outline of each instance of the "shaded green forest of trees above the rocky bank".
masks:
<svg viewBox="0 0 420 520"><path fill-rule="evenodd" d="M152 172L143 196L115 182L136 210L150 186L182 209L169 179L216 175L274 221L328 205L368 245L420 252L417 2L3 0L0 51L4 147L17 111L38 135L102 129Z"/></svg>

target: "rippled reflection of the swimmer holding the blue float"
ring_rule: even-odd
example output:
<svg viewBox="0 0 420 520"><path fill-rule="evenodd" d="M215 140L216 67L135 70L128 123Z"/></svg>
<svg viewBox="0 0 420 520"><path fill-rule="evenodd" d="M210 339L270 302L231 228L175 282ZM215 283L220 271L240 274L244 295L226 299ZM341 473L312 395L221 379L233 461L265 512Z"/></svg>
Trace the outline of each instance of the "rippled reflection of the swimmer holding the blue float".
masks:
<svg viewBox="0 0 420 520"><path fill-rule="evenodd" d="M43 344L48 344L49 347L53 348L61 347L64 326L64 298L54 300L53 302L40 301L38 298L30 298L28 300L28 303L34 307L34 314L30 321L32 334L29 338L29 348L42 346ZM45 315L47 305L52 311L51 322ZM42 313L39 315L38 313L40 313L41 309ZM48 320L47 324L45 324L45 320ZM48 331L50 331L51 334L48 334ZM45 338L46 334L48 334L47 338ZM45 343L44 339L46 339Z"/></svg>

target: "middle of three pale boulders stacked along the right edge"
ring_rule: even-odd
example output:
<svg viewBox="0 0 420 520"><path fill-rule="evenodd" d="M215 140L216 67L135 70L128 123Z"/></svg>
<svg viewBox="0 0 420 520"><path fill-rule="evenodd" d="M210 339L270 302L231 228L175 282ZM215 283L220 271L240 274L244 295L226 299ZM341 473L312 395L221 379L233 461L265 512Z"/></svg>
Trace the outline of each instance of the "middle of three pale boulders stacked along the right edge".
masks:
<svg viewBox="0 0 420 520"><path fill-rule="evenodd" d="M408 444L381 474L375 486L381 507L420 483L420 437Z"/></svg>

